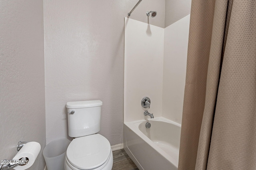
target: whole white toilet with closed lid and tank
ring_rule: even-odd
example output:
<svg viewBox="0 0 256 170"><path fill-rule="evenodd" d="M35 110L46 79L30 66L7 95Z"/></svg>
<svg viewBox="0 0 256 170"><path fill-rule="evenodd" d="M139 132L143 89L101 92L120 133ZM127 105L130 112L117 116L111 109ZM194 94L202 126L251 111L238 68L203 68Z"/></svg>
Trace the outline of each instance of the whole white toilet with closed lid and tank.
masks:
<svg viewBox="0 0 256 170"><path fill-rule="evenodd" d="M111 170L113 154L108 139L100 134L102 101L68 102L68 135L65 170Z"/></svg>

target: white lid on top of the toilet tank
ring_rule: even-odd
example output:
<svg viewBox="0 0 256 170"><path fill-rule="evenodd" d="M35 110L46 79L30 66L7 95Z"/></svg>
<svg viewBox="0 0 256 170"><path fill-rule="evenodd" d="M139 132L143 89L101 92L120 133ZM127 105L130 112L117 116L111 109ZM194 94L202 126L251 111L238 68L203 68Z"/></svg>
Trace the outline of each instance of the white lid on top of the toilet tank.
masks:
<svg viewBox="0 0 256 170"><path fill-rule="evenodd" d="M66 104L66 107L68 109L96 107L96 106L102 106L102 101L100 101L100 100L88 100L88 101L68 102Z"/></svg>

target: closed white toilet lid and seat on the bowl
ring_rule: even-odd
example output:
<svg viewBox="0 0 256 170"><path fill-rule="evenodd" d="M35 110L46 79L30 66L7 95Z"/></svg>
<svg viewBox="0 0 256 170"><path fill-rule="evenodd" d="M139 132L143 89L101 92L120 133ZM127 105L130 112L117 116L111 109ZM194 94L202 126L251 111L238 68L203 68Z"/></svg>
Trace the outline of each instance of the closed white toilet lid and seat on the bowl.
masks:
<svg viewBox="0 0 256 170"><path fill-rule="evenodd" d="M109 141L100 134L73 139L66 151L66 159L72 166L89 170L104 164L112 153Z"/></svg>

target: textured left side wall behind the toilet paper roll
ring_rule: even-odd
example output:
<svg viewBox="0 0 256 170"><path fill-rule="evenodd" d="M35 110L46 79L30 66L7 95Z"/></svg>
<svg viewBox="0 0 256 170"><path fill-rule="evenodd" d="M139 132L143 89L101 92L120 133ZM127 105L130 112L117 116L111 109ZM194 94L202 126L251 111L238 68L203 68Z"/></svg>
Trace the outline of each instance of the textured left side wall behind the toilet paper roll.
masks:
<svg viewBox="0 0 256 170"><path fill-rule="evenodd" d="M30 170L43 170L46 144L42 0L0 1L0 160L12 159L18 141L37 141Z"/></svg>

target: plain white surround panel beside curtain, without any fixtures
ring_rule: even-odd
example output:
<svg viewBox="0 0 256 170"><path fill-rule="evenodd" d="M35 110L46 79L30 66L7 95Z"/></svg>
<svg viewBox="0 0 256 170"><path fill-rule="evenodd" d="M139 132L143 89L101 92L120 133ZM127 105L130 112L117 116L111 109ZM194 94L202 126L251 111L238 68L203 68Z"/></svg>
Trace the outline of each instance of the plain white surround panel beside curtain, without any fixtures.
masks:
<svg viewBox="0 0 256 170"><path fill-rule="evenodd" d="M162 116L181 124L190 15L164 29Z"/></svg>

